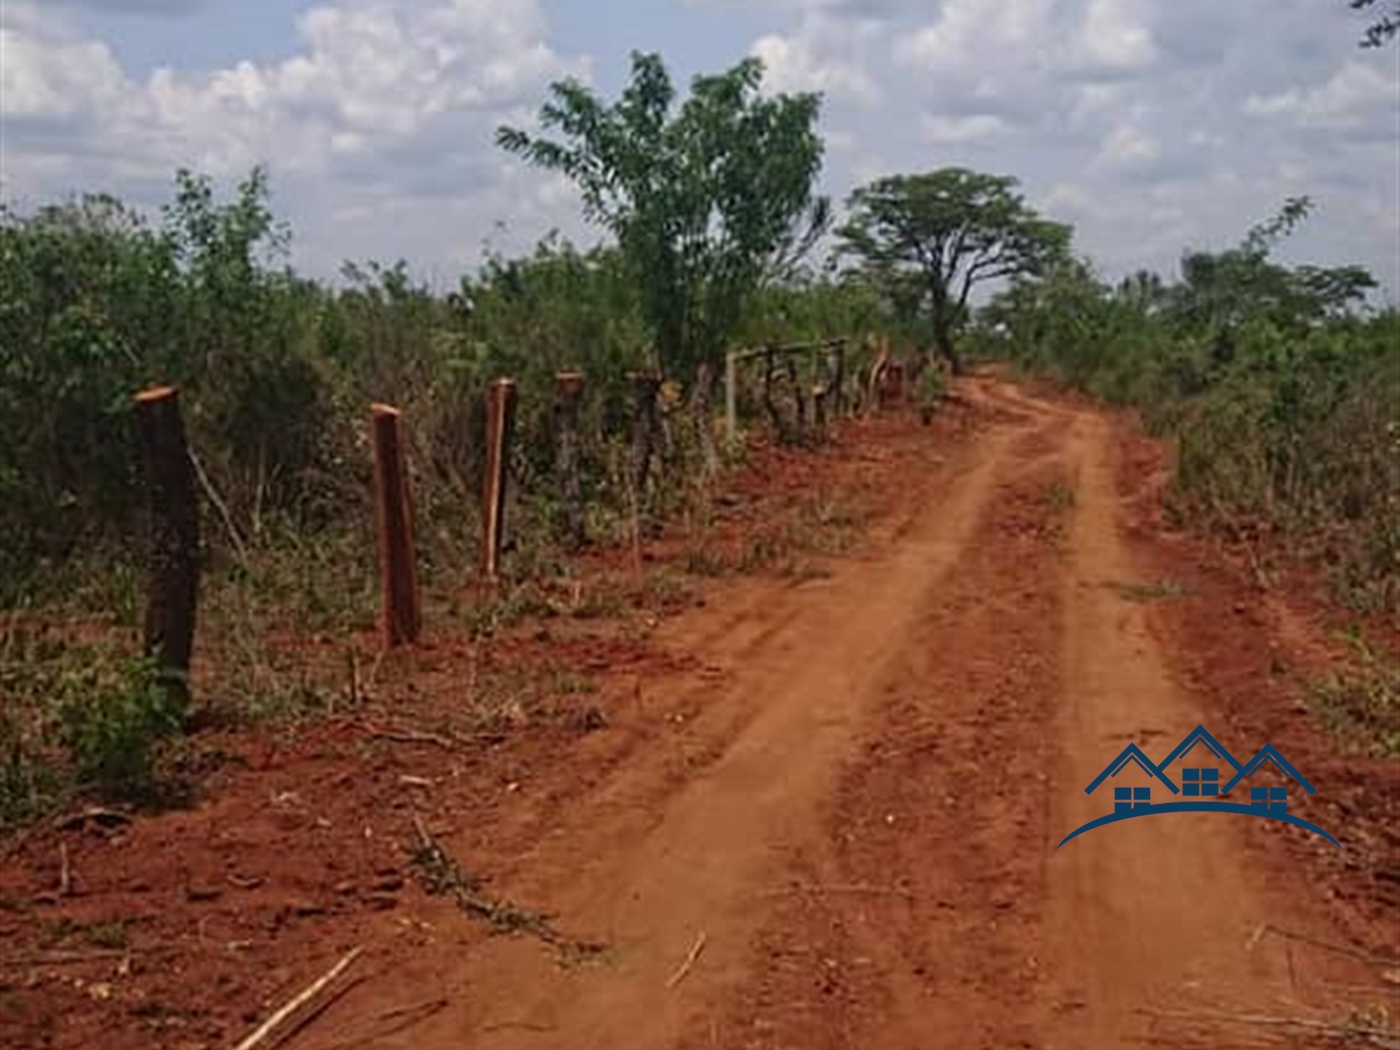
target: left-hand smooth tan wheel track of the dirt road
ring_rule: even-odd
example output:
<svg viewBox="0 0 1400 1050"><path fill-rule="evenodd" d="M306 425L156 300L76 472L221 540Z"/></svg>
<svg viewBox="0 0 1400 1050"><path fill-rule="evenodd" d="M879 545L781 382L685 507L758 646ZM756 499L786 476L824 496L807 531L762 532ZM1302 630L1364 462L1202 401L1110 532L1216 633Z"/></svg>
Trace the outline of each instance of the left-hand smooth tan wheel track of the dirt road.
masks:
<svg viewBox="0 0 1400 1050"><path fill-rule="evenodd" d="M659 644L692 652L693 637L708 637L697 655L732 672L690 725L697 760L678 767L662 749L636 753L588 798L561 805L554 833L517 865L508 888L561 928L609 941L612 953L598 966L560 970L535 944L489 941L447 969L441 959L410 966L403 979L452 1000L410 1042L666 1046L706 1004L732 994L753 931L773 907L763 892L805 843L820 841L823 801L878 700L872 685L904 648L925 596L965 556L1026 430L983 435L946 472L939 498L918 500L937 512L888 553L844 564L820 587L750 605L718 636L711 616L662 629ZM791 609L755 651L757 624L748 620L762 617L762 634ZM700 931L703 963L672 991L666 977Z"/></svg>

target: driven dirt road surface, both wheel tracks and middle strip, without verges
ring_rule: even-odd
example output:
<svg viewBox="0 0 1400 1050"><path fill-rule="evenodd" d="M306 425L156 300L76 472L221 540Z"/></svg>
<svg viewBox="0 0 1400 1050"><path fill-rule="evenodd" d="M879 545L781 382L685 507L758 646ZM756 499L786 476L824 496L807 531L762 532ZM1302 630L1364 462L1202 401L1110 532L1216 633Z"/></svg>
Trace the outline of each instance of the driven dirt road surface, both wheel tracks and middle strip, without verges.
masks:
<svg viewBox="0 0 1400 1050"><path fill-rule="evenodd" d="M1373 1001L1365 966L1260 937L1341 939L1296 829L1173 813L1056 848L1109 811L1084 788L1128 741L1165 752L1215 713L1130 596L1113 427L991 379L965 396L997 423L909 479L865 556L662 627L703 665L638 682L666 732L491 841L437 815L493 889L606 951L458 935L444 903L344 1009L447 1005L372 1046L1257 1046L1172 1015Z"/></svg>

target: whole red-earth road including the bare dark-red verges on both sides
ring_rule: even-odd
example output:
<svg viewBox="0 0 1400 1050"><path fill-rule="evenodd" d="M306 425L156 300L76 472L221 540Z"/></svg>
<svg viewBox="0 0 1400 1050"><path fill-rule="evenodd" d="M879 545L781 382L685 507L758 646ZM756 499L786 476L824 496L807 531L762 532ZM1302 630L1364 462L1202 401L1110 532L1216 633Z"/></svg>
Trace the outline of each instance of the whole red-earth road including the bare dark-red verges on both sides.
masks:
<svg viewBox="0 0 1400 1050"><path fill-rule="evenodd" d="M1400 1015L1375 965L1400 951L1400 767L1294 706L1320 631L1186 556L1121 420L991 377L958 398L729 479L739 543L874 491L853 554L714 580L637 634L636 610L482 644L448 623L382 672L396 693L204 742L228 755L190 809L21 836L0 1044L223 1050L351 945L290 1050L1329 1046L1273 1022ZM434 735L470 729L483 651L539 675L552 650L599 689L566 722ZM1302 763L1289 813L1348 851L1184 812L1060 846L1114 787L1165 801L1133 767L1085 785L1198 724ZM501 907L423 892L414 815Z"/></svg>

